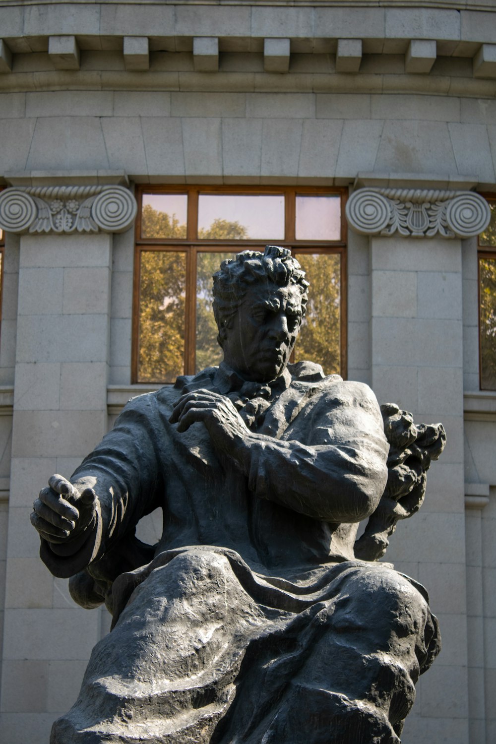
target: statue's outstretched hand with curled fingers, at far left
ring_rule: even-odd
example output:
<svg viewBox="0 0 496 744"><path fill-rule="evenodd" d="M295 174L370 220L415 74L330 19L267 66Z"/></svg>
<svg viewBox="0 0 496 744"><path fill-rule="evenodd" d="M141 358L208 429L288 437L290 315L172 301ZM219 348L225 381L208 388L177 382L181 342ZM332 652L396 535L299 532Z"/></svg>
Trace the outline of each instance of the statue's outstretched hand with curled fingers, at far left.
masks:
<svg viewBox="0 0 496 744"><path fill-rule="evenodd" d="M95 500L92 488L80 492L62 475L52 475L33 503L31 524L48 542L68 542L93 521Z"/></svg>

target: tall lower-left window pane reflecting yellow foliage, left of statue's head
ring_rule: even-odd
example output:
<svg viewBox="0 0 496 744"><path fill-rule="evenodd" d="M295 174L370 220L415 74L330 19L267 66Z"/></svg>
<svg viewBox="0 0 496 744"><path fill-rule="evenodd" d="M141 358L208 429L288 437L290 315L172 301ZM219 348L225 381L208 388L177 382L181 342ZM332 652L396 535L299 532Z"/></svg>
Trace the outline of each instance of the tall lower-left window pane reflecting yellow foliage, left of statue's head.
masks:
<svg viewBox="0 0 496 744"><path fill-rule="evenodd" d="M186 254L141 251L138 382L175 382L184 371Z"/></svg>

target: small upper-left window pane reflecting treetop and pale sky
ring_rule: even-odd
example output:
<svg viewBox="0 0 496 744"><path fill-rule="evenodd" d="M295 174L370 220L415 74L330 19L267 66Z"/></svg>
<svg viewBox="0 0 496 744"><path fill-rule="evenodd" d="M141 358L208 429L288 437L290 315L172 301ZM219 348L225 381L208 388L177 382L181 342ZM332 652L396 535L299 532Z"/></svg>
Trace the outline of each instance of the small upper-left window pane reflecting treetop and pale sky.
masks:
<svg viewBox="0 0 496 744"><path fill-rule="evenodd" d="M187 194L144 193L141 237L186 237Z"/></svg>

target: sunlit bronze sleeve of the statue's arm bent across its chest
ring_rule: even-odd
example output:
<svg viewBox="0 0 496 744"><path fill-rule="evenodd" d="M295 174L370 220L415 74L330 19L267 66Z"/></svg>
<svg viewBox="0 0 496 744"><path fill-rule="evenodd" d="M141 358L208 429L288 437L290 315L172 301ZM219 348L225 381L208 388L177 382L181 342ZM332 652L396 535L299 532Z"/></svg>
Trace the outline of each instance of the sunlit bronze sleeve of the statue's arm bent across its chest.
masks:
<svg viewBox="0 0 496 744"><path fill-rule="evenodd" d="M284 439L251 437L243 464L256 496L326 522L360 522L373 513L387 481L389 446L367 385L329 386Z"/></svg>

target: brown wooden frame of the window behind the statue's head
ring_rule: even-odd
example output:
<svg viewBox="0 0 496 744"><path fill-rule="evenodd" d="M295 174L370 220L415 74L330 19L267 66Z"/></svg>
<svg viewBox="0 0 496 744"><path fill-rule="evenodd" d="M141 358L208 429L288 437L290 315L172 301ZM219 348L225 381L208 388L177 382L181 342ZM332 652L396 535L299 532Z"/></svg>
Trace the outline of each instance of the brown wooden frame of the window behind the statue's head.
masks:
<svg viewBox="0 0 496 744"><path fill-rule="evenodd" d="M143 195L145 193L184 193L187 195L187 235L186 238L143 238L141 237L141 214ZM131 382L138 382L139 361L139 293L141 251L173 251L178 252L184 247L186 254L186 307L184 320L184 374L195 373L196 357L196 254L199 252L220 252L223 248L235 246L237 250L258 248L264 246L263 240L200 240L198 237L198 205L200 193L225 193L234 196L248 196L264 194L284 196L285 219L284 240L274 240L278 246L294 248L294 254L340 254L341 255L341 328L340 353L341 375L347 376L347 237L348 225L345 216L347 189L340 187L322 186L214 186L214 185L137 185L136 200L138 202L138 216L135 221L135 256L132 292L132 351L131 351ZM332 195L341 198L341 240L296 240L296 196L300 195ZM228 251L226 251L228 252ZM155 383L152 383L155 384ZM157 382L156 384L167 384Z"/></svg>

